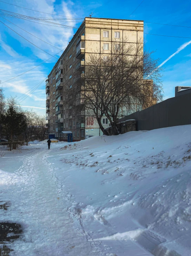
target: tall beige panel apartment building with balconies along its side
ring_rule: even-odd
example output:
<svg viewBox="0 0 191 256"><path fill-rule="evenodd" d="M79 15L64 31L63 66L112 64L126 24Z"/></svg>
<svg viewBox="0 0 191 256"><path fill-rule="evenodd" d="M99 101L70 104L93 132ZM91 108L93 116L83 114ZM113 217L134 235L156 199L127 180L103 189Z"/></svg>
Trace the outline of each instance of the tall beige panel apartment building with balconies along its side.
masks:
<svg viewBox="0 0 191 256"><path fill-rule="evenodd" d="M109 51L112 42L123 42L124 38L128 38L130 44L137 44L143 38L143 21L84 19L46 80L46 120L49 133L55 138L67 141L67 134L62 131L72 132L73 141L102 135L96 119L85 118L85 111L80 116L68 115L66 106L63 106L63 88L70 83L72 86L76 70L80 70L83 77L88 54L103 51L105 55L112 54ZM102 118L102 123L105 128L109 125L107 118Z"/></svg>

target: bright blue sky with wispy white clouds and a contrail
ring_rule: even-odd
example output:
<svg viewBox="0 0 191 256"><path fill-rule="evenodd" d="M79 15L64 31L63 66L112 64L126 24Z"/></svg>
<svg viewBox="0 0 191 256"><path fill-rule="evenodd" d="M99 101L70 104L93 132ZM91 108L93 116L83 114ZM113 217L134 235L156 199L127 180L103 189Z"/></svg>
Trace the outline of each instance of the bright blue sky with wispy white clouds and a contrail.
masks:
<svg viewBox="0 0 191 256"><path fill-rule="evenodd" d="M190 1L4 1L12 3L13 5L63 16L84 18L93 12L92 17L144 20L144 33L191 37ZM139 6L140 3L141 5ZM137 8L137 10L135 10L135 8ZM3 2L0 2L0 9L27 16L58 17L12 6ZM131 15L132 12L133 14ZM131 16L129 17L129 15ZM6 18L59 49L63 49L67 46L68 42L70 42L72 36L77 30L73 28L51 27L22 19ZM24 32L22 29L14 26L2 17L0 17L0 21L14 29L23 37L27 38L33 44L42 48L44 51L52 55L59 52L57 48L40 41L38 38L33 37L27 32ZM152 24L147 23L146 21L187 27ZM79 23L76 21L68 21L64 23L62 21L62 24L79 27L81 21ZM154 53L154 58L160 58L159 64L165 62L165 60L167 60L171 55L176 53L163 64L164 71L162 80L165 99L174 96L175 86L191 86L191 38L176 38L144 34L144 41L146 43L145 46L149 50L156 51ZM8 27L0 23L0 80L2 82L26 72L50 57L50 55L33 46ZM45 110L43 109L46 105L45 82L42 82L29 96L27 95L29 93L27 91L46 78L55 62L56 59L51 58L48 62L39 65L39 67L31 70L30 72L8 82L2 83L4 94L6 96L17 96L20 105L28 106L23 107L24 109L30 109L33 107L33 110L38 111L38 114L45 114Z"/></svg>

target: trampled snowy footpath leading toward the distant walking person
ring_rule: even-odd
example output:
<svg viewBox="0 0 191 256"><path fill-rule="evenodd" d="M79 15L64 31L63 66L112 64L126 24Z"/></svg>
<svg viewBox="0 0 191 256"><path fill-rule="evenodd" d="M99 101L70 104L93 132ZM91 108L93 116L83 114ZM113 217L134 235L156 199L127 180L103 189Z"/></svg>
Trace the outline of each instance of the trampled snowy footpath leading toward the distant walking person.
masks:
<svg viewBox="0 0 191 256"><path fill-rule="evenodd" d="M10 214L9 220L16 218L25 227L23 240L14 241L10 248L16 255L104 255L70 217L53 170L46 165L46 152L32 154L23 161L17 173L24 177L26 186L17 184L13 193L6 195L12 203L6 217Z"/></svg>

